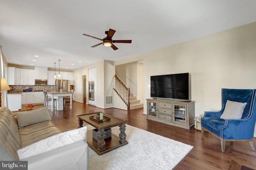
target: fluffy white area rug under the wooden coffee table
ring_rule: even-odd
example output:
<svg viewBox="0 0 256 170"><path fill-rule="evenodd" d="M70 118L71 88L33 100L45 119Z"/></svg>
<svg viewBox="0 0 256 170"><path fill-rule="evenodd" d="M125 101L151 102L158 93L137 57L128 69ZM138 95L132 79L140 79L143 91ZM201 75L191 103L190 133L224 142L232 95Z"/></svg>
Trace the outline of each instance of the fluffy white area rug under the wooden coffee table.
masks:
<svg viewBox="0 0 256 170"><path fill-rule="evenodd" d="M112 133L118 136L119 127ZM130 125L125 133L128 144L106 154L99 156L89 147L89 170L171 170L193 148Z"/></svg>

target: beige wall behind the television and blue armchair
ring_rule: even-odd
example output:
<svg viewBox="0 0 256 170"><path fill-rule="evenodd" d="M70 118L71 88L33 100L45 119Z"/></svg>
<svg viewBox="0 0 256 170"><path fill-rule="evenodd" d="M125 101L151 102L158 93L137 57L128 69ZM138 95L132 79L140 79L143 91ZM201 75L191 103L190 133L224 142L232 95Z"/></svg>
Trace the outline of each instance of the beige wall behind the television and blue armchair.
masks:
<svg viewBox="0 0 256 170"><path fill-rule="evenodd" d="M144 114L146 99L150 98L150 76L186 72L190 73L195 115L219 111L222 88L256 88L255 30L256 22L120 59L114 65L143 60Z"/></svg>

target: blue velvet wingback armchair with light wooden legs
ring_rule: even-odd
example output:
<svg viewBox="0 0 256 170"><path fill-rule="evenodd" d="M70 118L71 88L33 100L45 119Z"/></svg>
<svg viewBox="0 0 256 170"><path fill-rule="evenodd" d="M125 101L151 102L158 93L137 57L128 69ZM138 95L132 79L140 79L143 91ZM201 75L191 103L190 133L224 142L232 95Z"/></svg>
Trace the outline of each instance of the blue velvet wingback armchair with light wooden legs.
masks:
<svg viewBox="0 0 256 170"><path fill-rule="evenodd" d="M255 151L252 141L256 121L255 97L256 89L222 89L222 109L218 112L204 112L201 119L202 136L206 130L220 138L222 152L225 151L225 141L249 141L252 150ZM226 103L230 101L244 103L241 119L220 118Z"/></svg>

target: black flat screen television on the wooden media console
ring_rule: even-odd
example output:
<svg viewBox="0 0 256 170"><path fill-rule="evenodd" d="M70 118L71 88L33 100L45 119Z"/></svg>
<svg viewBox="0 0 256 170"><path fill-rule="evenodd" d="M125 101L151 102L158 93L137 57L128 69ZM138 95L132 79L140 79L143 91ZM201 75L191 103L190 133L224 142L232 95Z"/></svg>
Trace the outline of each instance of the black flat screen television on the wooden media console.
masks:
<svg viewBox="0 0 256 170"><path fill-rule="evenodd" d="M189 74L150 76L150 96L155 99L189 100Z"/></svg>

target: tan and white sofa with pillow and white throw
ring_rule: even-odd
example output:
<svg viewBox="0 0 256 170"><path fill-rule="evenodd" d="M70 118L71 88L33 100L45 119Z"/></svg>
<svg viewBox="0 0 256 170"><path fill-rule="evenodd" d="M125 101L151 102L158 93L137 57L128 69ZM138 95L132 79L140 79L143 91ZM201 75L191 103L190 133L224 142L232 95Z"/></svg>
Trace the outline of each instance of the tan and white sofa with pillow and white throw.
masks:
<svg viewBox="0 0 256 170"><path fill-rule="evenodd" d="M62 132L48 108L16 113L0 107L0 160L28 161L28 170L87 170L86 128Z"/></svg>

